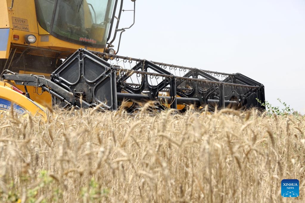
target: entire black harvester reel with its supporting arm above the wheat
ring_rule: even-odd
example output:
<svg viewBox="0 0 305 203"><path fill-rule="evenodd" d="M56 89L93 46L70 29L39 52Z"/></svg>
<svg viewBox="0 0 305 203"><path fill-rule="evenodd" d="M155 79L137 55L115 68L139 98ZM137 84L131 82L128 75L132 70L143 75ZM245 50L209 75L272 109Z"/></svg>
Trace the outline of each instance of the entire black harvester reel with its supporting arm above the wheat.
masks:
<svg viewBox="0 0 305 203"><path fill-rule="evenodd" d="M130 69L122 68L106 62L103 57L136 64ZM178 69L185 74L178 76L170 72ZM220 75L225 79L218 79ZM134 77L141 82L128 82ZM121 101L129 100L133 102L129 109L132 110L138 102L152 100L163 109L168 106L177 109L177 105L182 104L209 105L211 109L256 107L265 110L256 100L265 100L264 86L240 73L206 71L84 49L64 61L51 74L51 81L22 74L4 74L2 78L19 85L41 87L66 104L83 108L101 104L103 109L117 110Z"/></svg>

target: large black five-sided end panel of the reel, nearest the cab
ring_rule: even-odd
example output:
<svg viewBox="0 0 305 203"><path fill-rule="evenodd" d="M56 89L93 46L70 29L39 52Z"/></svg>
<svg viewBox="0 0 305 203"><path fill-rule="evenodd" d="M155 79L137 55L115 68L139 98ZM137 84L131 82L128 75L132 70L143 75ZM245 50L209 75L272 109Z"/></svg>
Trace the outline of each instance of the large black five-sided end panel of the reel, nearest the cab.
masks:
<svg viewBox="0 0 305 203"><path fill-rule="evenodd" d="M115 68L84 49L79 49L57 68L51 74L51 80L78 96L79 100L117 109Z"/></svg>

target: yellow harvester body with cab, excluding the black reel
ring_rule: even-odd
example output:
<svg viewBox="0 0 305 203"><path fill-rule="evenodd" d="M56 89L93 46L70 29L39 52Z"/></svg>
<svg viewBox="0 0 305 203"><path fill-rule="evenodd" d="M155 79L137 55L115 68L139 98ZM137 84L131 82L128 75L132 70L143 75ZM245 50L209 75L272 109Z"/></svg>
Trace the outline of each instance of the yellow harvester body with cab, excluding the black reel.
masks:
<svg viewBox="0 0 305 203"><path fill-rule="evenodd" d="M79 48L104 52L113 4L114 0L0 0L1 72L49 79ZM29 35L34 42L26 40ZM24 86L16 87L25 92ZM41 88L29 86L27 91L34 101L52 105L48 92L37 94Z"/></svg>

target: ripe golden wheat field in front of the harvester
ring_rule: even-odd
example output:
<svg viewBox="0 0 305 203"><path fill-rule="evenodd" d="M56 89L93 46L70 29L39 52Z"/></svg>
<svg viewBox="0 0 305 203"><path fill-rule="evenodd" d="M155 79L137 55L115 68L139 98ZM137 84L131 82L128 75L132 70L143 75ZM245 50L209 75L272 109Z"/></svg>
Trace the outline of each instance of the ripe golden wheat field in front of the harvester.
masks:
<svg viewBox="0 0 305 203"><path fill-rule="evenodd" d="M304 202L305 118L257 111L2 115L1 202ZM281 197L298 179L300 196Z"/></svg>

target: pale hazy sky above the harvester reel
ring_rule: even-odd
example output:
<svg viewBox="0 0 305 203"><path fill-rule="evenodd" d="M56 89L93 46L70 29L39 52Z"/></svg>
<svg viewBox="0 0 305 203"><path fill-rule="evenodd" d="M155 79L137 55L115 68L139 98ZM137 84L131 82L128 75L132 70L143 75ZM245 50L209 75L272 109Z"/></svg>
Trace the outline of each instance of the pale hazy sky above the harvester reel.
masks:
<svg viewBox="0 0 305 203"><path fill-rule="evenodd" d="M305 114L305 0L137 0L118 55L239 72L264 84L273 106L280 98Z"/></svg>

